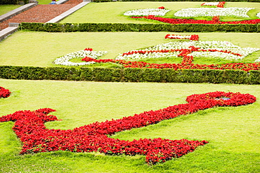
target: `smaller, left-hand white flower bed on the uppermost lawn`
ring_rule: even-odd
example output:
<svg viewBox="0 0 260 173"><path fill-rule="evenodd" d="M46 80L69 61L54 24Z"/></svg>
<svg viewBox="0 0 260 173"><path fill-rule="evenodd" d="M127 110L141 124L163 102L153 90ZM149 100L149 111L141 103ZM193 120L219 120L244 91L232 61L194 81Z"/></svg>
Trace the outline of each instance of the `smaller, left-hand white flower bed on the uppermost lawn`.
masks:
<svg viewBox="0 0 260 173"><path fill-rule="evenodd" d="M159 15L164 16L170 10L160 9L160 8L147 8L147 9L138 9L134 11L126 11L124 15Z"/></svg>

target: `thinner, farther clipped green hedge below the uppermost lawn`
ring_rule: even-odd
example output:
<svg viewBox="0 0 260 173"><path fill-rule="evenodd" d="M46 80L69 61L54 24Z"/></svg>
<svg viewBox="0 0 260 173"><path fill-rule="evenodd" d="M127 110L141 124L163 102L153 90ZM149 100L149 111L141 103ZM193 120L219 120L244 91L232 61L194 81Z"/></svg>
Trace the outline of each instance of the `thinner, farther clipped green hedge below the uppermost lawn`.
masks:
<svg viewBox="0 0 260 173"><path fill-rule="evenodd" d="M134 24L134 23L27 23L21 30L37 32L260 32L260 24Z"/></svg>

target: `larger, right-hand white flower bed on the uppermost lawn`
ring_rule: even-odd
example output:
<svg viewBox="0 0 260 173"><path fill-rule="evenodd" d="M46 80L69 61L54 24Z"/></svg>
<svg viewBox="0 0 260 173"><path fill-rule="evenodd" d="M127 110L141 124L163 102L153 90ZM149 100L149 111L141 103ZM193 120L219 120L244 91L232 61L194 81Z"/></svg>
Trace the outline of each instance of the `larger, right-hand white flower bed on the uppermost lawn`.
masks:
<svg viewBox="0 0 260 173"><path fill-rule="evenodd" d="M177 17L199 17L199 16L236 16L249 18L247 12L254 8L183 8L174 15Z"/></svg>

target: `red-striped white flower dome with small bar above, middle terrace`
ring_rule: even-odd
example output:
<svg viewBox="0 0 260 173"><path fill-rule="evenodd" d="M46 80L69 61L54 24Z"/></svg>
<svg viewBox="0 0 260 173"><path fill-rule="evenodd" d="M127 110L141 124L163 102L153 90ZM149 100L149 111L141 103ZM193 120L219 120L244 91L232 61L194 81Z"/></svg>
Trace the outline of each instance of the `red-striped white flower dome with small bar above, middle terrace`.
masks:
<svg viewBox="0 0 260 173"><path fill-rule="evenodd" d="M145 48L143 50L131 50L122 55L118 55L116 60L136 60L160 57L178 57L183 49L194 46L197 50L190 51L190 55L222 58L226 60L242 60L247 55L260 50L259 48L240 48L228 41L196 41L197 35L176 36L167 34L165 39L193 39L193 41L171 41L157 46Z"/></svg>

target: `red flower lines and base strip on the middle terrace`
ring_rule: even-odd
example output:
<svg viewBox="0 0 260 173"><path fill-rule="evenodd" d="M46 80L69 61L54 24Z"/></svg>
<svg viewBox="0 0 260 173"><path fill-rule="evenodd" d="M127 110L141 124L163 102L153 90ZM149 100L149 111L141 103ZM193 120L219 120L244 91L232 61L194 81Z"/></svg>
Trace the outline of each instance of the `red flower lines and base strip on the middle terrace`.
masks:
<svg viewBox="0 0 260 173"><path fill-rule="evenodd" d="M235 70L243 70L243 71L250 71L250 70L260 70L260 62L254 63L228 63L228 64L193 64L193 56L189 56L189 53L195 51L209 51L209 52L221 52L221 53L230 53L233 55L242 56L238 53L232 53L228 50L204 50L200 48L195 48L194 46L190 46L189 49L171 49L171 50L136 50L136 51L129 51L128 53L123 53L123 55L132 55L132 54L145 54L145 53L169 53L169 52L180 52L178 57L183 57L183 61L181 64L155 64L155 63L148 63L148 62L136 62L136 61L126 61L126 60L112 60L112 59L103 59L103 60L96 60L91 57L84 57L82 61L85 62L97 62L97 63L117 63L122 64L124 68L150 68L150 69L235 69Z"/></svg>

